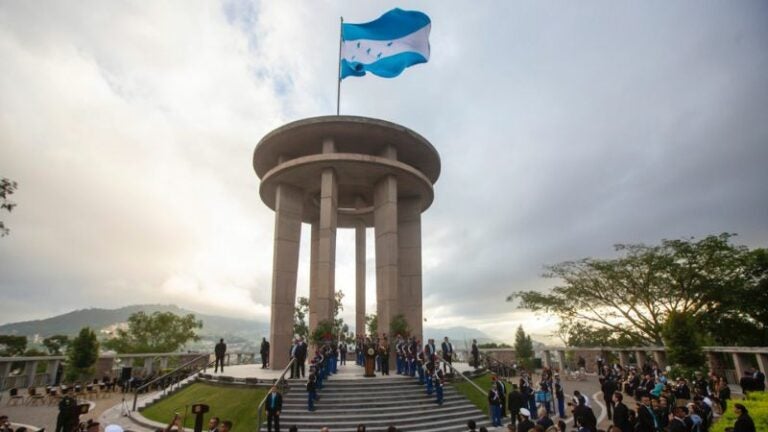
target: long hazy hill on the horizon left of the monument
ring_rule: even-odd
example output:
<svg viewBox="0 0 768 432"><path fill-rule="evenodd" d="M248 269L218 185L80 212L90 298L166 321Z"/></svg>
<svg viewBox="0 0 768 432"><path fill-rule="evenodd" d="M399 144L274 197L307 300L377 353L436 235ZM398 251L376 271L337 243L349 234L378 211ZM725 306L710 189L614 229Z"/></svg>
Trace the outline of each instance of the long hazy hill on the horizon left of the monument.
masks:
<svg viewBox="0 0 768 432"><path fill-rule="evenodd" d="M262 336L268 336L269 324L240 318L206 315L180 308L175 305L133 305L119 309L81 309L51 318L23 321L0 325L0 334L47 337L55 334L76 335L81 328L89 326L97 331L114 327L128 321L136 312L173 312L176 315L194 314L203 321L200 336L204 340L220 337L229 340L256 343Z"/></svg>

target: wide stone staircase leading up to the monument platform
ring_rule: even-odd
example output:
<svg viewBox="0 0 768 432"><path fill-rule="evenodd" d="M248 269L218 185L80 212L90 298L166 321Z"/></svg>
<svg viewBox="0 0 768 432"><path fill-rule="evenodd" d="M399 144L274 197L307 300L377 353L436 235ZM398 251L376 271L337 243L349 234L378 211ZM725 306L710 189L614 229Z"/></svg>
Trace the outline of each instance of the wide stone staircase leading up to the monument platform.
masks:
<svg viewBox="0 0 768 432"><path fill-rule="evenodd" d="M415 378L363 378L362 368L354 364L325 380L314 412L307 411L305 381L290 380L289 385L283 397L281 430L296 425L299 431L317 432L327 426L333 432L347 432L364 424L367 431L395 426L400 431L459 432L466 430L468 420L475 420L478 427L490 426L487 416L450 384L444 388L443 404L437 405L434 394L427 396Z"/></svg>

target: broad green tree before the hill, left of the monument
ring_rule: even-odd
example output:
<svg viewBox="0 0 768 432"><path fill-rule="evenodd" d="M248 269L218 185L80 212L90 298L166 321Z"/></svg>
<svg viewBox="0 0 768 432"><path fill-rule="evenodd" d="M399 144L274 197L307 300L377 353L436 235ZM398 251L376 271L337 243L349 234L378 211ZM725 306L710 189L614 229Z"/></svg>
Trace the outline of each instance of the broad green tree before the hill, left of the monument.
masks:
<svg viewBox="0 0 768 432"><path fill-rule="evenodd" d="M128 318L128 329L118 329L117 336L104 345L119 353L173 352L189 341L200 340L196 330L201 328L203 322L194 314L136 312Z"/></svg>

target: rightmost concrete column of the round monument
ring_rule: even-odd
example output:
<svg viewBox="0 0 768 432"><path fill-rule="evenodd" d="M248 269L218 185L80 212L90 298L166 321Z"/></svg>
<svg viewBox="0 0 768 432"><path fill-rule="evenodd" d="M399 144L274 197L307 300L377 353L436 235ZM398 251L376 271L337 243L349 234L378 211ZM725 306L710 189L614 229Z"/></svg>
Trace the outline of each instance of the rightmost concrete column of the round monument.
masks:
<svg viewBox="0 0 768 432"><path fill-rule="evenodd" d="M421 200L401 199L397 203L398 296L400 311L408 321L411 335L423 343L421 309Z"/></svg>

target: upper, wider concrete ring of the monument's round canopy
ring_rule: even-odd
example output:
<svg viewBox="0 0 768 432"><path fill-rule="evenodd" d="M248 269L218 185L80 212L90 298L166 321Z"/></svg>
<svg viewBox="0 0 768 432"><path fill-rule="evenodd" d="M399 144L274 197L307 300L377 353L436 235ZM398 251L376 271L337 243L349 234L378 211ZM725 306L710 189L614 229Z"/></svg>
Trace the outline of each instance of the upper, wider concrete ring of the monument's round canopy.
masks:
<svg viewBox="0 0 768 432"><path fill-rule="evenodd" d="M253 168L263 179L281 156L295 159L322 153L326 138L333 139L338 153L376 156L391 145L398 161L421 171L433 184L440 177L440 156L424 137L395 123L358 116L311 117L281 126L256 145Z"/></svg>

